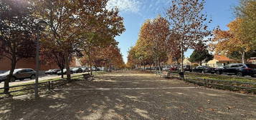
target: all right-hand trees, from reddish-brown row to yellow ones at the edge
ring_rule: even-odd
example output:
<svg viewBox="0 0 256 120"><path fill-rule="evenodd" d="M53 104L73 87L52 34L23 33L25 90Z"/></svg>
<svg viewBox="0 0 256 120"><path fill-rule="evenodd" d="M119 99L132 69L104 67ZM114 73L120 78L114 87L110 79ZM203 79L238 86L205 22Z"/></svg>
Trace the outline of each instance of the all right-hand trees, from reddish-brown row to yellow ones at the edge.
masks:
<svg viewBox="0 0 256 120"><path fill-rule="evenodd" d="M147 20L141 26L136 45L129 51L128 66L154 64L161 68L159 63L169 59L183 67L187 49L194 49L189 60L200 65L213 59L209 51L243 63L255 57L256 1L241 0L234 11L237 19L228 24L229 30L217 27L213 32L207 26L212 20L202 13L204 4L204 0L173 0L166 18Z"/></svg>

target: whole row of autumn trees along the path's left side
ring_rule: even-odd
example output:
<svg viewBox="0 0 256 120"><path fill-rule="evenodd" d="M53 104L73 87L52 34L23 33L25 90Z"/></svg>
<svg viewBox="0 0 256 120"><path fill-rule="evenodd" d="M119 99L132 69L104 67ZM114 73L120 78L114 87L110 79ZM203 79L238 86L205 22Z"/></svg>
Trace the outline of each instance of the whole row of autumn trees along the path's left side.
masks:
<svg viewBox="0 0 256 120"><path fill-rule="evenodd" d="M34 57L39 37L41 59L54 61L70 79L70 61L85 57L92 65L103 59L105 65L122 66L115 36L125 28L118 9L106 9L108 0L1 0L0 54L11 61L4 93L19 59ZM47 26L41 26L44 21ZM115 53L112 58L101 51ZM102 56L95 59L98 54ZM109 54L109 53L108 53ZM116 56L115 56L116 55ZM115 59L118 59L115 61ZM100 61L100 62L103 62ZM101 64L102 65L102 64Z"/></svg>

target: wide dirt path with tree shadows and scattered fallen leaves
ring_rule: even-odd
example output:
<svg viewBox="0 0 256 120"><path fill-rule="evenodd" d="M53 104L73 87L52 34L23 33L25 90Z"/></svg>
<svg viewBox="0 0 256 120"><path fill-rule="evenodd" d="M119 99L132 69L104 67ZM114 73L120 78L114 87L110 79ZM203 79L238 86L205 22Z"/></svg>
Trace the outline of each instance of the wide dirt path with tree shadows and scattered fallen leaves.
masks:
<svg viewBox="0 0 256 120"><path fill-rule="evenodd" d="M256 96L205 89L154 74L118 71L0 100L0 119L256 119Z"/></svg>

